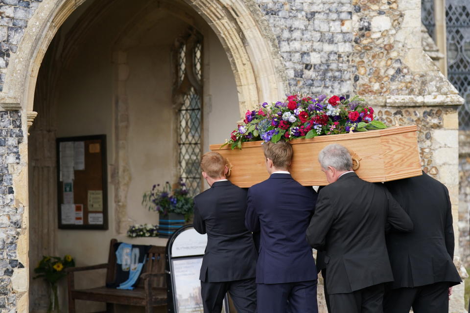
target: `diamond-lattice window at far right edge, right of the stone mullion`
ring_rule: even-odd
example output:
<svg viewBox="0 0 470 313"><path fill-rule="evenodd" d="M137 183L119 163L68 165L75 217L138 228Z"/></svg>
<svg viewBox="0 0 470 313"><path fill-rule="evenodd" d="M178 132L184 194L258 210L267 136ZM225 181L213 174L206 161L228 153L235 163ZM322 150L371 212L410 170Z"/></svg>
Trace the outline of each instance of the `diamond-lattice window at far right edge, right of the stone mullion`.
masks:
<svg viewBox="0 0 470 313"><path fill-rule="evenodd" d="M470 1L446 0L449 81L465 99L459 108L460 129L470 130Z"/></svg>

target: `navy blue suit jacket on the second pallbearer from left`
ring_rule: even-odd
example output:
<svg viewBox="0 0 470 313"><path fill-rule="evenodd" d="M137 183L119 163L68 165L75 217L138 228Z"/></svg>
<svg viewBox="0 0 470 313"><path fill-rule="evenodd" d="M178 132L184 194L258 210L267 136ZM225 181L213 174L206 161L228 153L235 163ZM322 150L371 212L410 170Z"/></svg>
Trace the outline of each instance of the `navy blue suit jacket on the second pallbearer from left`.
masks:
<svg viewBox="0 0 470 313"><path fill-rule="evenodd" d="M305 240L317 195L289 174L272 174L248 190L246 227L260 231L256 282L281 284L317 279Z"/></svg>

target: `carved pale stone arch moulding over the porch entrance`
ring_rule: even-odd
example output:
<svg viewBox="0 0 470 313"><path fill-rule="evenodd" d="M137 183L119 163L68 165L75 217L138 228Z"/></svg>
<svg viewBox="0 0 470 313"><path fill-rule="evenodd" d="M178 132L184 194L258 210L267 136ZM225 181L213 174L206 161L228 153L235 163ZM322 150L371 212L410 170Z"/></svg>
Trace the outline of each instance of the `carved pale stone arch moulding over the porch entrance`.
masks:
<svg viewBox="0 0 470 313"><path fill-rule="evenodd" d="M254 0L184 0L219 37L229 57L240 113L287 90L279 47ZM12 54L0 103L19 103L33 111L37 73L58 28L85 0L43 1L28 21L17 53ZM162 7L172 1L157 1Z"/></svg>

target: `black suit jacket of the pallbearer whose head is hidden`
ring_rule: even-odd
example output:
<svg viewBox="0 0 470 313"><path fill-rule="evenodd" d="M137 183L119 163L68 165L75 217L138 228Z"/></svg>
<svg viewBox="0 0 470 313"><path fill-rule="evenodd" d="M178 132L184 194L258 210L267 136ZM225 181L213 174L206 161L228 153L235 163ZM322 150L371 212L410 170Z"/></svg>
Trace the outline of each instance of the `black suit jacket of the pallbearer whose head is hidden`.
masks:
<svg viewBox="0 0 470 313"><path fill-rule="evenodd" d="M454 231L446 186L424 172L422 176L386 182L385 186L414 224L410 234L390 232L386 236L395 277L392 288L460 283L452 262Z"/></svg>

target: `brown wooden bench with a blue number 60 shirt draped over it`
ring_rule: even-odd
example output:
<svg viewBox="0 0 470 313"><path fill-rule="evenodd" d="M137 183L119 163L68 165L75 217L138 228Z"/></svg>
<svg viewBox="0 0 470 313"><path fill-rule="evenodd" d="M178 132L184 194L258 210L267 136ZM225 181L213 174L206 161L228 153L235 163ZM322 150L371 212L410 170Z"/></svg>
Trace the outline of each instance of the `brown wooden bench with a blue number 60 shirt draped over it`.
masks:
<svg viewBox="0 0 470 313"><path fill-rule="evenodd" d="M67 268L67 286L69 291L69 313L75 313L75 300L106 302L106 312L114 311L114 304L145 307L145 313L153 312L153 307L166 305L165 247L152 246L142 268L138 286L134 290L120 290L107 287L75 289L74 274L78 271L106 268L106 283L114 282L116 274L115 244L112 239L109 247L108 263Z"/></svg>

